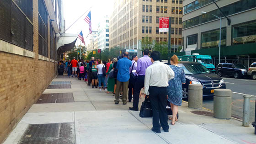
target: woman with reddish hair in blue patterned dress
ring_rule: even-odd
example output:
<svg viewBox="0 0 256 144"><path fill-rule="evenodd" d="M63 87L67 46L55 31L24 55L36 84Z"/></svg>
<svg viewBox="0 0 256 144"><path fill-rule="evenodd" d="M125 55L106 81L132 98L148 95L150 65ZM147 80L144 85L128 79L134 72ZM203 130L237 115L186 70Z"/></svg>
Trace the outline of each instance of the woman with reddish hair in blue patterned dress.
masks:
<svg viewBox="0 0 256 144"><path fill-rule="evenodd" d="M171 124L175 125L175 121L178 121L176 115L178 112L178 106L182 104L182 84L186 83L186 77L184 70L178 66L178 57L174 54L171 57L171 69L174 71L175 76L169 80L168 86L168 101L171 104L172 118Z"/></svg>

